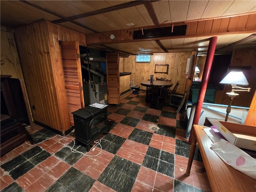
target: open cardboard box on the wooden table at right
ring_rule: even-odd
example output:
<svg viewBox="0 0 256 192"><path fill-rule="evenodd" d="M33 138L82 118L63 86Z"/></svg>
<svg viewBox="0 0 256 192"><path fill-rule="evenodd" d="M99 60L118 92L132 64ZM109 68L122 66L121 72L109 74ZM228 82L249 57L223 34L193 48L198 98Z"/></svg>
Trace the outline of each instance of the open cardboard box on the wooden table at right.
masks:
<svg viewBox="0 0 256 192"><path fill-rule="evenodd" d="M217 129L231 144L256 151L256 127L219 121Z"/></svg>

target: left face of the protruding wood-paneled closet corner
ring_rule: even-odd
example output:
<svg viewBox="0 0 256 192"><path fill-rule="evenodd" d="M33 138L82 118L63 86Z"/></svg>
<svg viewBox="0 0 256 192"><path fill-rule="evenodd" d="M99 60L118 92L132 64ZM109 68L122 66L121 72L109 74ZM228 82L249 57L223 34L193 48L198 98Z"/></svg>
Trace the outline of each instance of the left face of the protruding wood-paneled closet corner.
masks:
<svg viewBox="0 0 256 192"><path fill-rule="evenodd" d="M61 130L44 22L15 29L20 63L35 121Z"/></svg>

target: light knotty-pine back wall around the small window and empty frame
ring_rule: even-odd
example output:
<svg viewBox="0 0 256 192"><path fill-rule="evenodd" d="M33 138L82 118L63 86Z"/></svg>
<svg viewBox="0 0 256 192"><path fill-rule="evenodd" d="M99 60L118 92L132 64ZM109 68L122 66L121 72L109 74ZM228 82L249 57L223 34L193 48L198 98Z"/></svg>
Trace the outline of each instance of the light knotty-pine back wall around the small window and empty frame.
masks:
<svg viewBox="0 0 256 192"><path fill-rule="evenodd" d="M154 75L154 79L166 78L172 80L174 84L180 81L180 85L176 90L176 93L184 94L186 89L185 72L187 59L190 58L191 52L183 53L159 53L154 54L150 57L150 63L136 63L136 56L129 56L129 58L123 59L123 69L125 72L132 72L131 80L134 81L135 85L140 86L140 89L146 90L145 86L141 86L140 82L148 80L150 75ZM155 64L169 64L168 74L154 73ZM173 86L174 87L174 86ZM173 87L170 89L172 90Z"/></svg>

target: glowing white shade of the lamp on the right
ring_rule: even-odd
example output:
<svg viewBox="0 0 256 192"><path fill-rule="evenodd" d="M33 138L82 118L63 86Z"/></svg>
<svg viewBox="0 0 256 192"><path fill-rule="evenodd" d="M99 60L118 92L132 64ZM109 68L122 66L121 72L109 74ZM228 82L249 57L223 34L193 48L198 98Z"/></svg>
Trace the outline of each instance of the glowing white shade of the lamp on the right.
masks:
<svg viewBox="0 0 256 192"><path fill-rule="evenodd" d="M242 71L231 71L220 81L220 84L248 85L248 81Z"/></svg>

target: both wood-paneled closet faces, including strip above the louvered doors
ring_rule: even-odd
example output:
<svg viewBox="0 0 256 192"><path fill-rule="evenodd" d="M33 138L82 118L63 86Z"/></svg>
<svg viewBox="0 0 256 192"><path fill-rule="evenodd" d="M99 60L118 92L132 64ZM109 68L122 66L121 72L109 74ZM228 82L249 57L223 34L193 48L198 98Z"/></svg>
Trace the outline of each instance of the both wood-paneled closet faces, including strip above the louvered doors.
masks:
<svg viewBox="0 0 256 192"><path fill-rule="evenodd" d="M85 35L47 21L16 28L14 35L34 120L64 134L70 122L58 41L85 46Z"/></svg>

